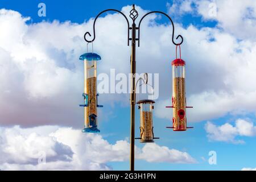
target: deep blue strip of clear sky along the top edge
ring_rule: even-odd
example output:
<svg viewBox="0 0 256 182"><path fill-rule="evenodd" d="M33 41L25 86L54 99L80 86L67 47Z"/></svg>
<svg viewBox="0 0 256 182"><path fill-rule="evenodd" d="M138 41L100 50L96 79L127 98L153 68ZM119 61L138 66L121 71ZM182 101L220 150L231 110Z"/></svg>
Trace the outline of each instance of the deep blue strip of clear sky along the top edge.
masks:
<svg viewBox="0 0 256 182"><path fill-rule="evenodd" d="M39 17L38 11L35 7L39 3L46 3L47 7L47 17ZM60 22L65 22L70 20L74 23L82 23L85 20L88 20L96 16L100 11L105 9L122 9L123 6L137 4L138 6L143 7L144 10L155 10L163 11L167 13L167 3L172 3L172 1L79 1L75 0L73 3L69 1L33 1L29 3L24 3L21 1L7 1L3 0L0 7L5 9L11 9L19 11L23 16L30 16L32 22L41 22L42 20L59 20ZM209 26L213 27L216 25L216 22L211 20L207 22L201 22L202 18L198 15L186 14L183 17L176 18L175 15L171 16L176 20L177 23L182 23L183 26L188 26L189 24L194 24L195 26ZM164 19L160 22L166 22Z"/></svg>

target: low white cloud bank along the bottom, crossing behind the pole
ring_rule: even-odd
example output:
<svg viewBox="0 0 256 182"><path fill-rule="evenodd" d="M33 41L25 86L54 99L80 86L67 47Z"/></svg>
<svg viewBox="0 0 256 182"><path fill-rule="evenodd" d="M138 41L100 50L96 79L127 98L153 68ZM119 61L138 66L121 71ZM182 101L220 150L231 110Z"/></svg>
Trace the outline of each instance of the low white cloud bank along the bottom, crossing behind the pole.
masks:
<svg viewBox="0 0 256 182"><path fill-rule="evenodd" d="M70 127L0 127L2 170L110 170L108 162L127 161L129 151L126 140L110 144L101 135L84 134ZM147 162L196 163L187 152L157 144L135 147L135 158Z"/></svg>

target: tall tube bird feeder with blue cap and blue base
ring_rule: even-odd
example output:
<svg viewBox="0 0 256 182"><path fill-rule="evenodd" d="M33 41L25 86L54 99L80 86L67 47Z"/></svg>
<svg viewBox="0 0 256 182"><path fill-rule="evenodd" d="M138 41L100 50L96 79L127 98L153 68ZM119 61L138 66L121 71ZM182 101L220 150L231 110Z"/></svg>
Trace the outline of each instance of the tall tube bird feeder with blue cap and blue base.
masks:
<svg viewBox="0 0 256 182"><path fill-rule="evenodd" d="M79 57L84 61L84 129L83 133L98 133L97 124L97 107L98 105L97 94L97 61L101 60L101 56L97 53L84 53Z"/></svg>

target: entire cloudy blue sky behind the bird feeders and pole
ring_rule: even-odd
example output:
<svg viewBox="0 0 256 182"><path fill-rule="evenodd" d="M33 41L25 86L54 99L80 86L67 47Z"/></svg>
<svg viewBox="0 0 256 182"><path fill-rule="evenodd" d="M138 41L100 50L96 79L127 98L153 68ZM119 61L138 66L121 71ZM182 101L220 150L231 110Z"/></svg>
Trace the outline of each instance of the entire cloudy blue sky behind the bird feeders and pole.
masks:
<svg viewBox="0 0 256 182"><path fill-rule="evenodd" d="M39 3L46 5L46 16L39 16ZM137 24L143 14L163 11L174 21L175 37L184 38L187 104L193 106L187 121L194 127L166 129L172 118L165 106L171 103L175 46L168 19L151 14L141 24L137 72L159 76L153 84L159 84L153 122L160 139L147 144L136 140L135 169L256 170L254 0L1 0L1 170L129 169L129 94L101 93L101 133L81 133L84 68L79 56L86 52L84 33L92 33L100 11L117 9L129 16L133 3ZM97 19L93 50L102 57L98 75L110 76L113 69L115 75L128 75L130 47L121 15ZM138 94L137 100L144 97ZM135 114L137 137L138 109Z"/></svg>

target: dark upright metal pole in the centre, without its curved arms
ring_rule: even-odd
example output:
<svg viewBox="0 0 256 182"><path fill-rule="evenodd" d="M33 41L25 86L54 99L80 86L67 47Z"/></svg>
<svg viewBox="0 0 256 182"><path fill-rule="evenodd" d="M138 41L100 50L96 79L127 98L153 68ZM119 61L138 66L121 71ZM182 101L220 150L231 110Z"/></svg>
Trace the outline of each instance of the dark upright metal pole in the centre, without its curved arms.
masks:
<svg viewBox="0 0 256 182"><path fill-rule="evenodd" d="M136 61L135 61L135 49L136 49L136 24L131 26L131 135L130 135L130 171L134 171L134 128L135 128L135 73L136 73Z"/></svg>

